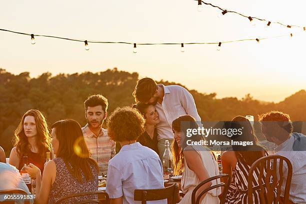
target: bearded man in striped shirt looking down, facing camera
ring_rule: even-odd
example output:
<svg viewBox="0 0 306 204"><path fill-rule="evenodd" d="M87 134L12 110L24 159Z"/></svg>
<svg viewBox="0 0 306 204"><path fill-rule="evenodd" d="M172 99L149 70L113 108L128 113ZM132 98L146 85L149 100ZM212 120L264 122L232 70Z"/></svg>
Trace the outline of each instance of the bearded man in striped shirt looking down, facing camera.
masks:
<svg viewBox="0 0 306 204"><path fill-rule="evenodd" d="M90 95L85 101L87 124L82 127L85 142L91 157L99 166L99 175L107 173L108 161L115 155L115 142L110 140L107 129L102 128L107 116L107 99L100 95Z"/></svg>

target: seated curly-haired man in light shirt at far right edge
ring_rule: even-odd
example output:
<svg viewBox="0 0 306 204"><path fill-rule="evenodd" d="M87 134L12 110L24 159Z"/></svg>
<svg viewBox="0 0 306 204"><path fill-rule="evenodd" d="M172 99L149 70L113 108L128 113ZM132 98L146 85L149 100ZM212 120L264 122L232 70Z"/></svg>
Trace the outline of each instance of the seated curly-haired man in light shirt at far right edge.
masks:
<svg viewBox="0 0 306 204"><path fill-rule="evenodd" d="M261 130L266 139L275 143L274 153L288 158L292 164L292 178L289 191L291 203L306 203L306 136L292 132L288 114L270 111L259 115ZM285 189L287 166L283 165L281 196ZM283 199L283 198L282 198Z"/></svg>

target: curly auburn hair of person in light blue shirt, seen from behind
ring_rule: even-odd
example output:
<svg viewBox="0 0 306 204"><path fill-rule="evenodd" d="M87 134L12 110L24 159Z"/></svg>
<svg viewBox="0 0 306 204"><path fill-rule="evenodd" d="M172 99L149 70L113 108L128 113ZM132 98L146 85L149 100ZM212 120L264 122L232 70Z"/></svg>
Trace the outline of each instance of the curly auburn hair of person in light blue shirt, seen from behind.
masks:
<svg viewBox="0 0 306 204"><path fill-rule="evenodd" d="M114 141L136 140L144 132L144 118L135 108L117 107L108 117L107 126Z"/></svg>

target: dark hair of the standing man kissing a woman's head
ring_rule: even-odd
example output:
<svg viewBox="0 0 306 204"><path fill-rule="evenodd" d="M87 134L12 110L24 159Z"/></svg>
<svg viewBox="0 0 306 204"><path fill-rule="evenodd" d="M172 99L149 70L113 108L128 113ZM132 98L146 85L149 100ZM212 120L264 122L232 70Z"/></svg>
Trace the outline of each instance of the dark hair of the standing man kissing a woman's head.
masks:
<svg viewBox="0 0 306 204"><path fill-rule="evenodd" d="M137 81L133 96L135 102L147 102L156 92L157 84L151 78L141 78Z"/></svg>

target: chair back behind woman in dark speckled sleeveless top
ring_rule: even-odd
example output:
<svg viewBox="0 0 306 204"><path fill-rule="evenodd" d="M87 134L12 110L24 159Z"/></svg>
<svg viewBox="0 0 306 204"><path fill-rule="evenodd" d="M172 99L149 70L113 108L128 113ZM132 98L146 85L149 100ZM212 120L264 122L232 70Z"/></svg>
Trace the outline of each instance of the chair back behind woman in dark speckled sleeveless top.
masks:
<svg viewBox="0 0 306 204"><path fill-rule="evenodd" d="M79 192L79 193L72 193L70 195L66 195L63 196L61 198L59 198L58 200L56 200L55 204L58 204L64 200L67 200L69 198L72 197L78 197L78 196L84 196L84 195L94 195L96 194L98 196L97 199L95 198L88 198L88 199L84 199L82 201L78 201L78 202L73 202L74 204L83 204L83 203L99 203L101 200L104 200L103 203L109 203L109 197L108 194L104 191L101 190L96 190L96 191L90 191L90 192Z"/></svg>

